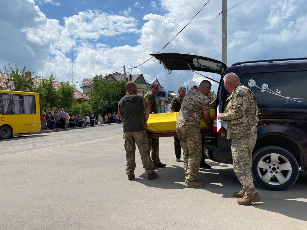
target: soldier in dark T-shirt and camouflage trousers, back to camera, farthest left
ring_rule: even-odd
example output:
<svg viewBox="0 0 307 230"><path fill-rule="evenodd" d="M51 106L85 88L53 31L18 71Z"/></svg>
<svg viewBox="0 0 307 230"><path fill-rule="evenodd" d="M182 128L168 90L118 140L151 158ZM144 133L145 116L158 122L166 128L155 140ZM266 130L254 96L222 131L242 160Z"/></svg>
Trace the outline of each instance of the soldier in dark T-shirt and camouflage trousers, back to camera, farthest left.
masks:
<svg viewBox="0 0 307 230"><path fill-rule="evenodd" d="M149 106L142 94L137 94L138 88L134 82L126 83L127 94L120 99L118 116L123 121L126 150L126 174L128 180L133 180L135 169L135 144L137 144L143 167L148 174L148 179L158 177L154 172L154 164L150 159L149 141L145 127L149 117ZM145 112L145 113L144 113Z"/></svg>

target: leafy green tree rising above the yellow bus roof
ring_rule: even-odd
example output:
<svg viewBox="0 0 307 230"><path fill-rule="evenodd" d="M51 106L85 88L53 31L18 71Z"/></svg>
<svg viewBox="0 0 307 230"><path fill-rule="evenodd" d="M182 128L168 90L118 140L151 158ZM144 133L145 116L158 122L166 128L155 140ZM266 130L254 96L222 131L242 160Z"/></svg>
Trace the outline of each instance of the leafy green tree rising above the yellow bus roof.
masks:
<svg viewBox="0 0 307 230"><path fill-rule="evenodd" d="M36 88L34 85L34 78L30 71L25 71L25 66L19 69L17 65L15 68L8 64L8 67L3 66L7 74L10 74L6 80L4 80L5 89L25 91L25 92L35 92Z"/></svg>

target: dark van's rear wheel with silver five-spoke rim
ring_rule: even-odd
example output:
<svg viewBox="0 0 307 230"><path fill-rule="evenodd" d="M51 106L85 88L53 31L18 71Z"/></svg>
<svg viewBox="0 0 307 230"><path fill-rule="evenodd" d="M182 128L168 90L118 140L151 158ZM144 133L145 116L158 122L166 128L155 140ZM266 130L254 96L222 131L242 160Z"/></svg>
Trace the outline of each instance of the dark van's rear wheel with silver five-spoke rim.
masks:
<svg viewBox="0 0 307 230"><path fill-rule="evenodd" d="M298 177L298 163L286 149L268 145L253 154L253 178L257 185L267 190L290 188Z"/></svg>

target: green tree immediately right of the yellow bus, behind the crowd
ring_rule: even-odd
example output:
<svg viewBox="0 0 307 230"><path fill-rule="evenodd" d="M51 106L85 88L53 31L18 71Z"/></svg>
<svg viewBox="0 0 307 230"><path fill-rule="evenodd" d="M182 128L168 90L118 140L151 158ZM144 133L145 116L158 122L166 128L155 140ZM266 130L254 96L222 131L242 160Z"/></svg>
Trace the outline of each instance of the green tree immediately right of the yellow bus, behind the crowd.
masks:
<svg viewBox="0 0 307 230"><path fill-rule="evenodd" d="M46 113L51 112L47 110L52 110L56 108L59 102L59 96L57 90L53 86L53 81L55 76L52 74L49 78L42 79L40 85L37 88L39 94L39 103L41 110L44 110Z"/></svg>

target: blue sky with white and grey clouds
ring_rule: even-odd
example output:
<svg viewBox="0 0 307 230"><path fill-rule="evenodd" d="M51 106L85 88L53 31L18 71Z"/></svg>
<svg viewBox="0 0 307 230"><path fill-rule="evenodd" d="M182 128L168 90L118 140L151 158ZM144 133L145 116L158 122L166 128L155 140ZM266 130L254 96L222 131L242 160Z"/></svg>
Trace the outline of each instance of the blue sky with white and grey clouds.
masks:
<svg viewBox="0 0 307 230"><path fill-rule="evenodd" d="M12 63L58 81L106 75L139 65L159 51L207 2L201 0L0 0L0 69ZM163 52L222 60L221 0L210 0ZM228 0L227 8L240 2ZM243 1L242 1L243 2ZM247 0L227 11L228 63L307 57L305 0ZM217 17L216 17L217 16ZM212 22L211 20L216 19ZM208 24L208 22L212 22ZM132 71L132 72L131 72ZM204 77L167 73L157 59L127 70L157 78L165 90ZM203 73L220 80L220 76ZM212 90L218 84L212 82Z"/></svg>

